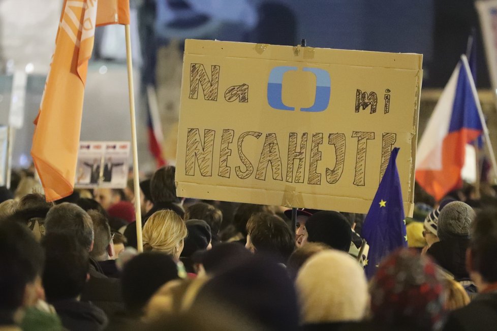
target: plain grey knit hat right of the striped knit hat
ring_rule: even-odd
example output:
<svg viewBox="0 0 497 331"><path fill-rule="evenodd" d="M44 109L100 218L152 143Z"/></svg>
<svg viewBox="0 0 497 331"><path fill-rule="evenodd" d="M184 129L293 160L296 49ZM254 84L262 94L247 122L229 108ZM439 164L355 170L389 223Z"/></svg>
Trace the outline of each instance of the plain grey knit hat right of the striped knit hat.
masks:
<svg viewBox="0 0 497 331"><path fill-rule="evenodd" d="M471 223L476 214L473 208L460 201L451 202L440 211L438 235L441 240L469 238Z"/></svg>

